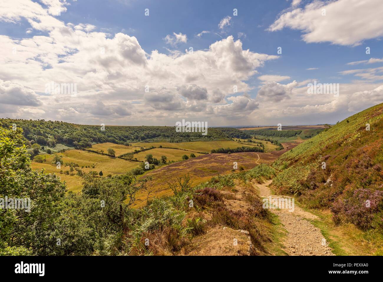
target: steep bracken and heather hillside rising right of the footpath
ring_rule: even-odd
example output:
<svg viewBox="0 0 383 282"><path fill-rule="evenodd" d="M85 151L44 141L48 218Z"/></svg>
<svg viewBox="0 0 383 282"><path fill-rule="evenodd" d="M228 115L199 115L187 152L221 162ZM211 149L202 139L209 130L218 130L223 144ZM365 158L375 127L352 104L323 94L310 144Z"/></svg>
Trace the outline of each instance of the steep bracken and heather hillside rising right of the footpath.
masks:
<svg viewBox="0 0 383 282"><path fill-rule="evenodd" d="M322 131L273 163L281 171L275 189L309 208L330 208L337 224L383 234L382 128L379 104Z"/></svg>

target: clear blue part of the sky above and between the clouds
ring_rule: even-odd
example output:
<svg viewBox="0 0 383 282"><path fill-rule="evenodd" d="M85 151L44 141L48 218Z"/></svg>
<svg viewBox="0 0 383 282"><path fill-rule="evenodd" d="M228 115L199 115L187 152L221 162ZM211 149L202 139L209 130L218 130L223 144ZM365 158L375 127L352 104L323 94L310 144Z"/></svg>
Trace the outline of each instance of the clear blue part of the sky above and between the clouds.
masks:
<svg viewBox="0 0 383 282"><path fill-rule="evenodd" d="M107 3L107 5L105 5ZM301 40L301 31L283 30L269 32L265 29L277 18L278 14L291 5L291 1L105 1L85 0L71 4L62 19L65 22L81 23L86 21L95 26L110 28L114 33L121 32L135 36L142 48L149 52L157 49L165 52L164 36L173 32L188 36L188 42L177 49L192 46L194 49L209 48L210 44L220 39L219 21L225 16L232 16L233 9L238 9L238 16L232 16L229 26L221 36L242 32L246 38L240 38L244 49L250 51L277 54L282 47L278 61L270 62L262 68L262 74L288 74L293 79L307 79L307 68L318 67L313 72L315 78L333 80L337 72L353 69L346 66L351 61L362 61L370 57L383 57L382 42L376 39L365 40L360 46L339 46L331 43L307 44ZM149 16L144 10L149 8ZM134 31L130 30L133 29ZM202 38L195 35L203 30L212 31ZM215 33L214 33L215 32ZM365 46L372 49L372 54L365 54ZM352 77L339 76L339 82L350 82ZM257 80L255 80L256 84Z"/></svg>

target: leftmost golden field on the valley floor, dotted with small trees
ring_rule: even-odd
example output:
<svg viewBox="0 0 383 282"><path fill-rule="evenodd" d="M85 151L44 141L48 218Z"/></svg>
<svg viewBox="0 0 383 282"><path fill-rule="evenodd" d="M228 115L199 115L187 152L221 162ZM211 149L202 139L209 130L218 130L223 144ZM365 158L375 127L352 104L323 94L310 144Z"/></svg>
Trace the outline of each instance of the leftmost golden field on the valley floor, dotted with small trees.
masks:
<svg viewBox="0 0 383 282"><path fill-rule="evenodd" d="M110 147L109 147L110 148ZM105 155L96 154L93 152L81 151L81 150L68 150L58 153L57 156L62 158L61 169L56 168L56 164L52 164L53 155L41 155L43 156L43 163L31 162L33 169L45 169L46 172L53 172L57 174L62 181L66 182L67 189L74 193L78 193L82 189L82 179L74 175L66 175L60 173L60 171L69 171L69 166L65 166L65 163L74 162L78 164L84 172L96 171L97 173L102 171L103 176L108 174L125 174L134 167L139 166L139 162L131 162L123 159L113 158ZM88 167L85 167L88 166ZM94 167L93 167L94 166Z"/></svg>

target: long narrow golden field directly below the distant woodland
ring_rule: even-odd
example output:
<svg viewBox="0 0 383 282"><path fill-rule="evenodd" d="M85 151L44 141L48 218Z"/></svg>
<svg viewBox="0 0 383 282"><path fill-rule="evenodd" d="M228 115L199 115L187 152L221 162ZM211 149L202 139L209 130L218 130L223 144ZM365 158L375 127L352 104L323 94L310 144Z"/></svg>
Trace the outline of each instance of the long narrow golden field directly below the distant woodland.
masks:
<svg viewBox="0 0 383 282"><path fill-rule="evenodd" d="M190 150L193 152L208 152L212 149L218 149L218 148L237 148L241 146L245 146L243 144L239 144L234 141L196 141L196 142L182 142L182 143L169 143L169 142L153 142L153 143L133 143L133 146L139 146L139 147L168 147L168 148L177 148L177 149L185 149ZM250 145L250 144L249 144ZM254 146L254 145L253 145Z"/></svg>

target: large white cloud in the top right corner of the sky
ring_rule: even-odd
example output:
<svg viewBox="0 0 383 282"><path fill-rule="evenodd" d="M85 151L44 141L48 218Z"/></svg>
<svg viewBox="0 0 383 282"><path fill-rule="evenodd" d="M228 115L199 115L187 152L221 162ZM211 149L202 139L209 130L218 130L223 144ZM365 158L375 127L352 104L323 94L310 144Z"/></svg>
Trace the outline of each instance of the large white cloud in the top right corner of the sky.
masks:
<svg viewBox="0 0 383 282"><path fill-rule="evenodd" d="M316 0L304 8L283 12L268 30L291 28L301 30L306 43L331 42L355 46L365 39L383 36L382 26L381 0Z"/></svg>

